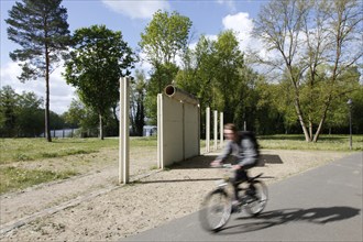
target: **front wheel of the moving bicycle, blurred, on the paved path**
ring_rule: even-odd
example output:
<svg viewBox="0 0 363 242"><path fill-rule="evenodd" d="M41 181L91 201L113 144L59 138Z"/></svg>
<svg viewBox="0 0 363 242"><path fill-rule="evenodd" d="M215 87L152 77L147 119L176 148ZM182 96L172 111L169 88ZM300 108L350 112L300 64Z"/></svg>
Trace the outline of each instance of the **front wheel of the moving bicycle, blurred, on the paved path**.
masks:
<svg viewBox="0 0 363 242"><path fill-rule="evenodd" d="M222 189L207 195L199 211L201 227L207 231L218 232L230 219L232 211L231 198Z"/></svg>

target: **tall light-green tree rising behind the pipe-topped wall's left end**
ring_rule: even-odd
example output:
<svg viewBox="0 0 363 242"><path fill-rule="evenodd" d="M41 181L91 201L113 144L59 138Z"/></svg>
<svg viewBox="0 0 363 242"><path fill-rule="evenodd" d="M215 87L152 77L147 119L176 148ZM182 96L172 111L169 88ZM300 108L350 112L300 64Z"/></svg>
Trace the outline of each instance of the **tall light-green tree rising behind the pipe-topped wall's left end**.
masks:
<svg viewBox="0 0 363 242"><path fill-rule="evenodd" d="M152 64L153 73L147 86L147 112L155 118L156 95L170 84L177 72L176 56L182 56L188 47L191 21L178 12L157 11L141 33L139 43L146 61Z"/></svg>

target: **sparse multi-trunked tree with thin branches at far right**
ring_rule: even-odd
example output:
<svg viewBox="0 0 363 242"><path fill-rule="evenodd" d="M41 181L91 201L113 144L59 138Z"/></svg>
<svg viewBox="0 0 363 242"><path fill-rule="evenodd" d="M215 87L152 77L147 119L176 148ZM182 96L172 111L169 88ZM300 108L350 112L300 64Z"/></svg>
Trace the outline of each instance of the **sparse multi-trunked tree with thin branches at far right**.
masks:
<svg viewBox="0 0 363 242"><path fill-rule="evenodd" d="M354 82L354 76L342 76L362 56L361 7L355 0L272 0L255 22L254 34L270 52L258 61L290 80L308 142L318 140L332 100L348 91L342 87Z"/></svg>

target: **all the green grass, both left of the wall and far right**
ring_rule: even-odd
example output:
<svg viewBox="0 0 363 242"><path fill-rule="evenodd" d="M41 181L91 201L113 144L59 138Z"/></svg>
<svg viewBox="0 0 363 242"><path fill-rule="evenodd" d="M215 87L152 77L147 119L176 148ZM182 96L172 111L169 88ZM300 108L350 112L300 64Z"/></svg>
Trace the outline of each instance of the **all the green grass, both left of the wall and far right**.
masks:
<svg viewBox="0 0 363 242"><path fill-rule="evenodd" d="M265 135L258 136L258 143L261 148L268 150L350 151L349 135L321 135L317 143L306 142L304 135ZM213 141L210 142L210 145L213 145ZM138 147L156 147L157 139L155 136L131 138L130 146L136 150ZM200 146L206 146L206 141L201 140ZM363 135L353 135L353 151L362 151L362 146ZM48 162L56 157L96 153L106 147L118 150L119 140L114 138L103 141L99 139L54 139L50 143L45 139L1 139L0 194L77 175L73 170L19 168L15 165L19 162Z"/></svg>

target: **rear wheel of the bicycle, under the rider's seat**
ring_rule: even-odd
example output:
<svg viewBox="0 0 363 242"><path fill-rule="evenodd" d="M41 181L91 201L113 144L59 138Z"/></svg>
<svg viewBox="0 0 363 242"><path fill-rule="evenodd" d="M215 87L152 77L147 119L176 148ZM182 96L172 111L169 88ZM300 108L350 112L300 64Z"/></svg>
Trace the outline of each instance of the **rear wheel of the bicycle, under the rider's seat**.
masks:
<svg viewBox="0 0 363 242"><path fill-rule="evenodd" d="M255 187L255 195L246 202L245 211L251 216L257 216L266 207L268 198L267 186L261 180L254 180L253 186Z"/></svg>

